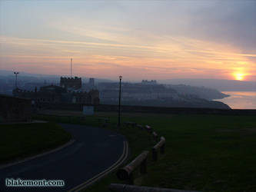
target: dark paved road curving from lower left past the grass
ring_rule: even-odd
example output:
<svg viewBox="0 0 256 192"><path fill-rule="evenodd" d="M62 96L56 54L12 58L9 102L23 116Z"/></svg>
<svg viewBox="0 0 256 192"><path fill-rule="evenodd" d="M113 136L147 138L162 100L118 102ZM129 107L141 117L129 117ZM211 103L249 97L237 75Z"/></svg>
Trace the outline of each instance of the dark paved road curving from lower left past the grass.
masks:
<svg viewBox="0 0 256 192"><path fill-rule="evenodd" d="M0 191L67 191L106 170L121 157L125 137L115 132L61 124L75 142L60 151L0 169ZM64 180L65 187L5 187L5 178Z"/></svg>

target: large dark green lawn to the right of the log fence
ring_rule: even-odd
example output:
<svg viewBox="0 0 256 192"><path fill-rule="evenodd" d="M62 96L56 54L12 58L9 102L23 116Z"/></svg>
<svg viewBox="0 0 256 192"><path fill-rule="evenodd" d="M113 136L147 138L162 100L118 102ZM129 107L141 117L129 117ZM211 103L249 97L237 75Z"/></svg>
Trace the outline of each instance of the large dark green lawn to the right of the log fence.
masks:
<svg viewBox="0 0 256 192"><path fill-rule="evenodd" d="M164 123L165 122L165 123ZM256 191L256 119L189 115L151 121L167 154L142 184L204 191Z"/></svg>

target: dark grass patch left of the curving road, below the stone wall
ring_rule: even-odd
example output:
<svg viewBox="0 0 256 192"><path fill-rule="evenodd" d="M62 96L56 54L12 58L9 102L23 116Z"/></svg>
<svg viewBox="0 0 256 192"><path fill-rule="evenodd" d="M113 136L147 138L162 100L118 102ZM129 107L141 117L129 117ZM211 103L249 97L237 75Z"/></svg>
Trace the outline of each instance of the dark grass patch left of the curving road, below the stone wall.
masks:
<svg viewBox="0 0 256 192"><path fill-rule="evenodd" d="M57 124L1 124L0 164L39 154L71 139Z"/></svg>

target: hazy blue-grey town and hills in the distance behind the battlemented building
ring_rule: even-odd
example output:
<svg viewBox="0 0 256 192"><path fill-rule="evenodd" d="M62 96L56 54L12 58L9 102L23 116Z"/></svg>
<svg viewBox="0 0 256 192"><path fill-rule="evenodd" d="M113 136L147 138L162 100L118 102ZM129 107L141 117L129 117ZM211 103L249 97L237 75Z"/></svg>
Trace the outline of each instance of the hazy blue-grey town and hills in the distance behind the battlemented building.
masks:
<svg viewBox="0 0 256 192"><path fill-rule="evenodd" d="M12 95L15 89L13 71L0 71L0 93ZM216 80L215 80L216 81ZM141 82L123 82L121 84L121 103L126 105L159 106L174 108L229 108L227 104L214 99L229 97L223 91L254 91L253 81L198 80L198 86L189 85L189 80L161 81L142 80ZM169 82L169 83L168 83ZM173 84L171 84L173 82ZM180 82L178 84L177 82ZM192 81L193 82L193 81ZM99 91L101 104L118 104L118 82L107 79L81 78L78 91ZM200 86L204 84L204 86ZM226 84L226 87L224 87ZM232 84L232 86L231 86ZM18 74L17 86L24 91L35 91L48 85L60 85L60 76L44 74ZM206 85L206 86L205 86ZM232 89L233 87L233 89ZM45 101L46 102L46 101ZM72 102L72 101L70 101ZM74 102L74 101L73 101Z"/></svg>

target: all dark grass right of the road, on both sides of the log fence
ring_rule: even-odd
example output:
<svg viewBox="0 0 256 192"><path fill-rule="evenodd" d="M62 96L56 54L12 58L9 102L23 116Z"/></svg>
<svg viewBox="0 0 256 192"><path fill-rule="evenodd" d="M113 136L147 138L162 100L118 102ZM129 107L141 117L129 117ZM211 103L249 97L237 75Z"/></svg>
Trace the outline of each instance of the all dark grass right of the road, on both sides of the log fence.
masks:
<svg viewBox="0 0 256 192"><path fill-rule="evenodd" d="M62 121L97 126L98 117L108 117L110 127L115 129L116 116L98 113L86 120L74 117ZM254 116L122 114L122 121L149 124L167 141L166 153L157 162L150 160L148 174L137 174L135 184L183 190L256 191ZM132 128L120 132L131 147L129 161L154 145L146 132ZM108 191L111 183L121 183L115 173L85 191Z"/></svg>

